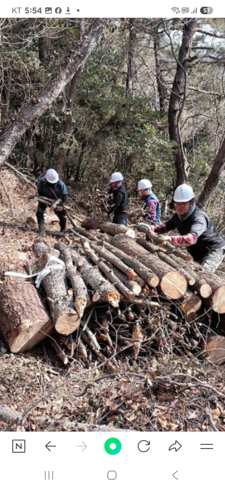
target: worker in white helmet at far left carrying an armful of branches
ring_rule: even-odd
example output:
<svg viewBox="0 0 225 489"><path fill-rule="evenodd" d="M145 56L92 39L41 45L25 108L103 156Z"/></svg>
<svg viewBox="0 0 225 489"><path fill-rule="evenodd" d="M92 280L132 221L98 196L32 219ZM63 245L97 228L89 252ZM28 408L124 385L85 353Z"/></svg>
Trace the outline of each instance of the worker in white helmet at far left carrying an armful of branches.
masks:
<svg viewBox="0 0 225 489"><path fill-rule="evenodd" d="M46 171L45 176L40 178L38 182L38 195L41 197L47 197L48 199L58 200L61 198L60 204L54 209L55 214L58 216L60 221L60 230L64 232L66 230L66 214L63 209L68 192L66 190L65 184L59 179L59 175L53 168ZM39 225L40 234L45 233L44 225L44 211L46 205L39 202L37 209L37 221Z"/></svg>

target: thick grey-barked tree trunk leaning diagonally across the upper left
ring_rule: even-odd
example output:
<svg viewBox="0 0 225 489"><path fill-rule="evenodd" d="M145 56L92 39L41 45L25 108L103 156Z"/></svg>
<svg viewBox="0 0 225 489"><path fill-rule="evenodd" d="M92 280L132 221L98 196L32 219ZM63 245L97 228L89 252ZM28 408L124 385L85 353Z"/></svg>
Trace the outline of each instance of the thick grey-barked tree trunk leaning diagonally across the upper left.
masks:
<svg viewBox="0 0 225 489"><path fill-rule="evenodd" d="M26 102L18 117L0 137L0 166L11 154L20 137L41 115L49 109L61 91L72 80L78 70L82 70L88 56L97 45L108 22L113 19L95 19L86 33L86 39L72 56L61 63L61 67L46 85L29 102Z"/></svg>

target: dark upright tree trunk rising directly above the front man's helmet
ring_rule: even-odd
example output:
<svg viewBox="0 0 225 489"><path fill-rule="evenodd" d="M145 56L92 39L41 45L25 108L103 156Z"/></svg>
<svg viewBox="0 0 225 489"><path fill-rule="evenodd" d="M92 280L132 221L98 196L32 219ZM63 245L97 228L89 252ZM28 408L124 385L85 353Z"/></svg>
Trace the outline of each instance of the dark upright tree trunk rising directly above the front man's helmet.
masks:
<svg viewBox="0 0 225 489"><path fill-rule="evenodd" d="M169 137L170 141L174 141L176 143L176 147L174 149L174 159L177 170L176 187L187 180L190 169L182 141L181 114L186 100L187 63L195 29L196 19L186 19L178 58L174 53L172 40L169 35L172 52L177 62L177 70L170 94L168 111Z"/></svg>

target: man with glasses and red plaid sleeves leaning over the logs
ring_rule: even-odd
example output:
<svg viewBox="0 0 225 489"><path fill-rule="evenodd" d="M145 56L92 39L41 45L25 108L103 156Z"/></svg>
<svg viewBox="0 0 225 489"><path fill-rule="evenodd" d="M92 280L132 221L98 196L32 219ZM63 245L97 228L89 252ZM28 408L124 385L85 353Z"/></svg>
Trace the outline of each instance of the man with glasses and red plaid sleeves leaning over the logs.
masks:
<svg viewBox="0 0 225 489"><path fill-rule="evenodd" d="M205 212L194 202L194 192L190 185L183 183L174 192L175 213L167 221L151 226L156 233L177 229L178 236L163 236L175 246L187 246L196 262L210 271L215 271L225 256L225 239L215 229Z"/></svg>

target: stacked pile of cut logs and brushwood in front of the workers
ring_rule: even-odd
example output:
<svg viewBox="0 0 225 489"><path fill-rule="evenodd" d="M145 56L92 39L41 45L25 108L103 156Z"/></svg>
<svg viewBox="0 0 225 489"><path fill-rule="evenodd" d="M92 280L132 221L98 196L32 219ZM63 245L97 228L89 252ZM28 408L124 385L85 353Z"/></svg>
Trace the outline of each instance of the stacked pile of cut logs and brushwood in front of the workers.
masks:
<svg viewBox="0 0 225 489"><path fill-rule="evenodd" d="M90 362L93 352L106 368L114 369L118 354L126 351L136 358L154 352L199 356L203 350L208 359L223 363L225 338L213 333L211 311L217 320L225 313L225 282L187 260L184 251L164 250L143 237L131 238L125 226L94 221L92 226L104 233L107 228L107 234L71 229L76 246L55 244L65 268L52 269L42 281L42 307L54 327L49 342L61 361L66 364L78 357ZM86 227L91 227L90 220ZM40 271L53 251L43 240L33 249ZM40 299L33 284L24 284ZM4 290L1 317L10 309L5 306L6 286ZM7 332L2 324L0 328L8 341L13 319L9 317ZM26 336L16 351L34 346L32 335L31 328L30 338Z"/></svg>

